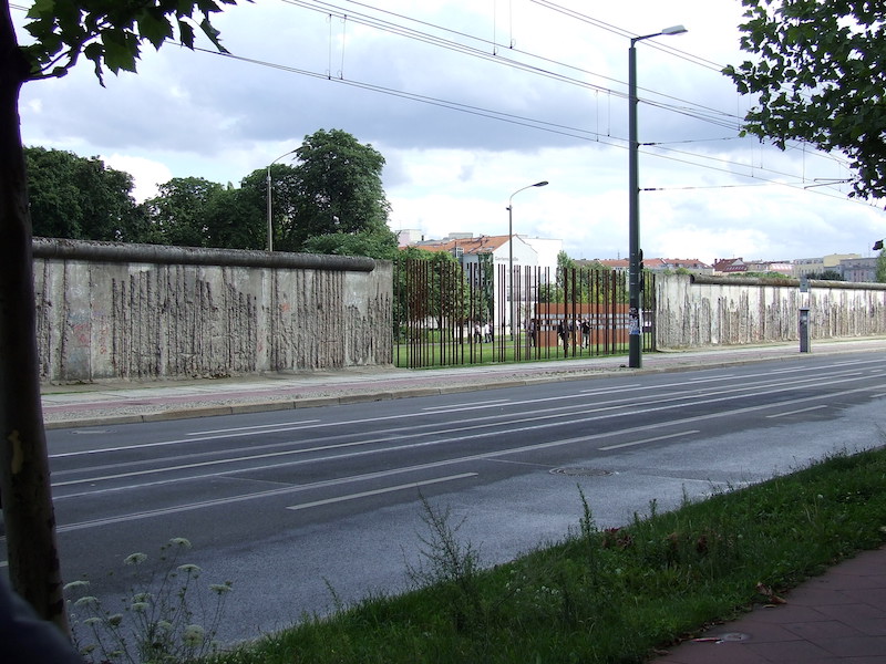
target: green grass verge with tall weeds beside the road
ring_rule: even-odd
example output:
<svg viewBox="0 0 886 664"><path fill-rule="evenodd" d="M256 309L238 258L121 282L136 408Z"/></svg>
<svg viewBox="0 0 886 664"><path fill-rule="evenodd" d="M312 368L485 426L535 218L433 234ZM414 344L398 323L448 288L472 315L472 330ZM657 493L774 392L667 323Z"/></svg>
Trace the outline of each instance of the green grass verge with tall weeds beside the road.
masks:
<svg viewBox="0 0 886 664"><path fill-rule="evenodd" d="M493 569L425 504L430 585L367 599L215 664L630 663L886 541L886 450L839 454L740 490L599 530ZM441 561L443 561L441 563Z"/></svg>

